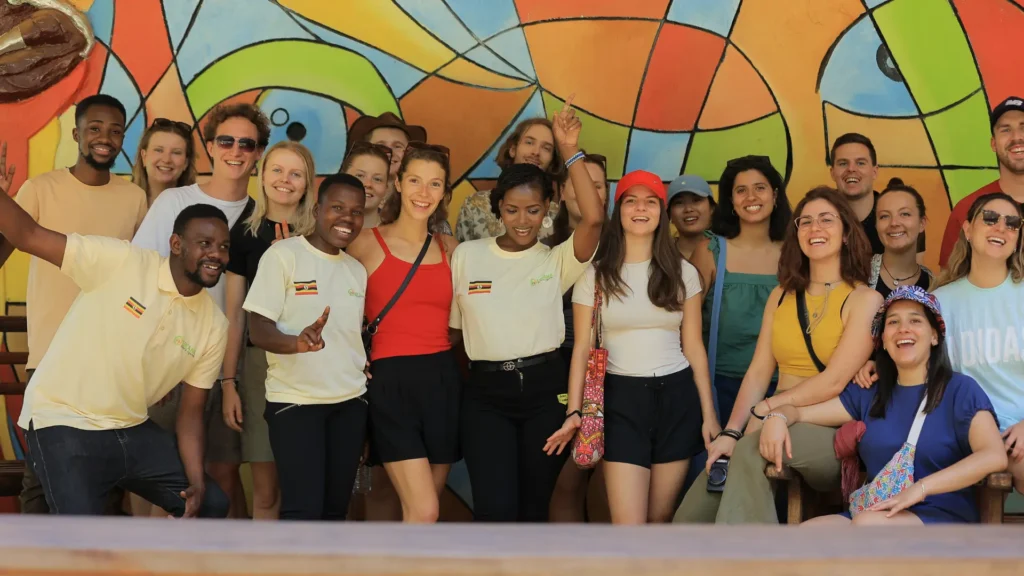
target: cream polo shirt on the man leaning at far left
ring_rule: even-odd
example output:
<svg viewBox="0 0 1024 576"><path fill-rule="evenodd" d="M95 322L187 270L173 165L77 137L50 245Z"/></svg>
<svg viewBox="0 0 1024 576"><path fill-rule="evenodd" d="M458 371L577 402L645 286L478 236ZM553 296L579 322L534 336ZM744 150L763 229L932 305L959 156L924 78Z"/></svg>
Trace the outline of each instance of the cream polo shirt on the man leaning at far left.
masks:
<svg viewBox="0 0 1024 576"><path fill-rule="evenodd" d="M227 319L206 290L182 296L167 258L72 234L60 272L82 292L25 392L19 426L126 428L178 382L213 386Z"/></svg>

